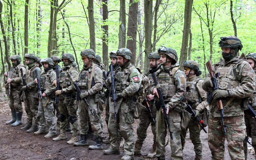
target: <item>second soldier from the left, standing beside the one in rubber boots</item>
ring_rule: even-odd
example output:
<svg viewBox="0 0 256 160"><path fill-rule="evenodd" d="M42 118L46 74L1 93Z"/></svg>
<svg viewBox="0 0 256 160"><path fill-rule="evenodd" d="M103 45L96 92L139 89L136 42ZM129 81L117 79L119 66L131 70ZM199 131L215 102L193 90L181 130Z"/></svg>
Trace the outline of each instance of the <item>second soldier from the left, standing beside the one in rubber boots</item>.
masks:
<svg viewBox="0 0 256 160"><path fill-rule="evenodd" d="M26 59L26 65L29 67L28 70L26 70L26 86L23 86L21 89L23 91L27 90L27 97L29 99L29 106L27 107L27 101L25 94L23 95L23 101L25 105L25 110L27 113L27 123L24 127L21 127L21 130L29 129L27 132L35 132L38 130L38 93L37 91L37 85L34 83L34 79L36 79L35 70L37 70L38 74L41 74L41 69L38 67L38 65L35 64L36 57L34 54L25 54L24 58Z"/></svg>

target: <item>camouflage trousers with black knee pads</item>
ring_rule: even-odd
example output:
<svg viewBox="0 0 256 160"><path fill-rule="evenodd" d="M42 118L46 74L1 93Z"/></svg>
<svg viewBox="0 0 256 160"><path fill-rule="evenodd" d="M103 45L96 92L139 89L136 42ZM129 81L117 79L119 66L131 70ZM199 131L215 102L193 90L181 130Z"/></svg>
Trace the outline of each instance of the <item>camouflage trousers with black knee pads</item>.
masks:
<svg viewBox="0 0 256 160"><path fill-rule="evenodd" d="M64 101L64 97L62 98L60 96L59 99L59 114L61 114L60 121L60 133L65 134L66 133L66 126L70 122L72 124L72 131L73 135L77 135L78 129L78 118L77 118L77 106L74 102L73 105L68 105L68 102Z"/></svg>

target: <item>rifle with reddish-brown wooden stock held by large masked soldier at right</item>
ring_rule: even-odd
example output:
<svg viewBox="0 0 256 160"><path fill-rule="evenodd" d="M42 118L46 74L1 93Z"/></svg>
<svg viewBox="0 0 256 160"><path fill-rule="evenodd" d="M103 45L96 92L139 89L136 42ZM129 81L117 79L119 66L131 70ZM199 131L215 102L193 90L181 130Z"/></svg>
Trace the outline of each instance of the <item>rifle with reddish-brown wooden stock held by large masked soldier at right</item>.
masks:
<svg viewBox="0 0 256 160"><path fill-rule="evenodd" d="M211 81L213 82L213 91L214 92L215 90L218 90L219 87L218 87L218 82L217 82L217 78L215 77L214 75L214 72L213 72L213 66L211 65L211 60L209 60L208 62L206 62L206 67L210 73L210 76L211 76ZM227 135L226 133L226 125L224 124L224 109L223 109L223 105L222 105L222 101L221 101L221 98L218 98L218 101L217 101L217 106L219 108L219 111L220 111L220 114L221 114L221 123L222 123L222 129L223 129L223 133L225 135Z"/></svg>

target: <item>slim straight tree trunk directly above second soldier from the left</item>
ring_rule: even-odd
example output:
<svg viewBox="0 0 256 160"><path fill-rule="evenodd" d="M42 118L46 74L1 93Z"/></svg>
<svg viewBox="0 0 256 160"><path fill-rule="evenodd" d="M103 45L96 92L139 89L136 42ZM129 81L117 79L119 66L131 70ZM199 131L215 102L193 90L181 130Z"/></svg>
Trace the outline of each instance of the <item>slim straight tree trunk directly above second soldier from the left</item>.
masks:
<svg viewBox="0 0 256 160"><path fill-rule="evenodd" d="M24 48L24 53L28 53L28 47L29 47L29 41L28 41L28 38L29 38L29 35L28 35L28 31L29 31L29 28L28 28L28 17L29 17L29 0L26 0L26 3L25 3L25 17L24 17L24 45L25 45L25 48Z"/></svg>

